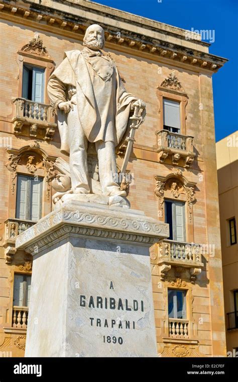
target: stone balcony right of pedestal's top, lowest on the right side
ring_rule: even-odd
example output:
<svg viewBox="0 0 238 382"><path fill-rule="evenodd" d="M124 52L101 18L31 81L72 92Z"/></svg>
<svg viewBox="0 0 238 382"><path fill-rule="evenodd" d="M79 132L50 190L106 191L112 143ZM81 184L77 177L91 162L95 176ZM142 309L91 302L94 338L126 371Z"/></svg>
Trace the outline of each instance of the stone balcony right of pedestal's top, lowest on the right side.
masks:
<svg viewBox="0 0 238 382"><path fill-rule="evenodd" d="M190 270L191 282L194 282L204 266L201 257L199 244L163 240L158 244L158 255L154 260L160 266L162 279L171 267L184 267Z"/></svg>

